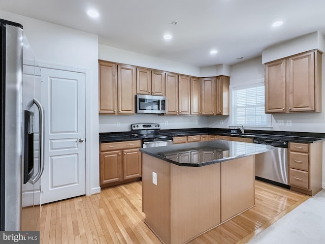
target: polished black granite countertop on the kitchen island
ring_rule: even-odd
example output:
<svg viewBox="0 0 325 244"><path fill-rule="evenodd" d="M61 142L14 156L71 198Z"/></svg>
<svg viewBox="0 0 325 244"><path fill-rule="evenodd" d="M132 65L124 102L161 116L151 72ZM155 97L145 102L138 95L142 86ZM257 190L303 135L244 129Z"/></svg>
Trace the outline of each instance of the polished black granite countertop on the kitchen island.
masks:
<svg viewBox="0 0 325 244"><path fill-rule="evenodd" d="M147 147L139 150L179 166L200 167L261 154L273 149L274 147L268 145L217 140Z"/></svg>

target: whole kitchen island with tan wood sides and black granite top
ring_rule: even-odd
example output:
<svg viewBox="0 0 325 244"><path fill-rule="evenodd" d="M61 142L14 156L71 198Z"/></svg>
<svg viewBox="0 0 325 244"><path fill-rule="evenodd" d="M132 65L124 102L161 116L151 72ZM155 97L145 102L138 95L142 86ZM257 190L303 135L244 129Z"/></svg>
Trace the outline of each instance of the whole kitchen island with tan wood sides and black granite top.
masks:
<svg viewBox="0 0 325 244"><path fill-rule="evenodd" d="M254 155L271 146L207 141L142 148L145 223L184 243L254 206Z"/></svg>

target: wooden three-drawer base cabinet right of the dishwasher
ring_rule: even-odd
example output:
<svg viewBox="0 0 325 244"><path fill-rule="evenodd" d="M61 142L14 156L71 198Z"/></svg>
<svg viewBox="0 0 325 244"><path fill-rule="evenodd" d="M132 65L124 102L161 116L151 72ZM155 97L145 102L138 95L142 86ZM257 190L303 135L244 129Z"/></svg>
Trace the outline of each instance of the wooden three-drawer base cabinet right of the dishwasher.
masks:
<svg viewBox="0 0 325 244"><path fill-rule="evenodd" d="M291 190L313 196L322 189L321 142L289 142L288 162Z"/></svg>

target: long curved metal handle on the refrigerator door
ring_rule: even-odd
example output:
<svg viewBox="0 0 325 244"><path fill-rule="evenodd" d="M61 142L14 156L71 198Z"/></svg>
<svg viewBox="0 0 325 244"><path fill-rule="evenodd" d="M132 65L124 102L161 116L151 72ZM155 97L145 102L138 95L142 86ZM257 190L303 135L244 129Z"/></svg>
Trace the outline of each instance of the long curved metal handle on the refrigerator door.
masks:
<svg viewBox="0 0 325 244"><path fill-rule="evenodd" d="M33 102L37 106L39 112L40 112L40 123L39 123L39 130L40 130L40 143L39 143L39 171L34 177L31 177L29 179L29 182L31 184L35 184L40 178L44 170L44 108L42 104L36 99L33 99Z"/></svg>

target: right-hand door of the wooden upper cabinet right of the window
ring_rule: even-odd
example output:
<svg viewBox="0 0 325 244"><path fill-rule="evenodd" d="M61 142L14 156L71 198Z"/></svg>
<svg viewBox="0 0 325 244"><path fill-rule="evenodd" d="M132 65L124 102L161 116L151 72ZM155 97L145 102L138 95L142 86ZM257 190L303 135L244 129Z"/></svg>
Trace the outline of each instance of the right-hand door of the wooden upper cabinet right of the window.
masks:
<svg viewBox="0 0 325 244"><path fill-rule="evenodd" d="M314 52L302 53L287 59L288 111L315 110Z"/></svg>

